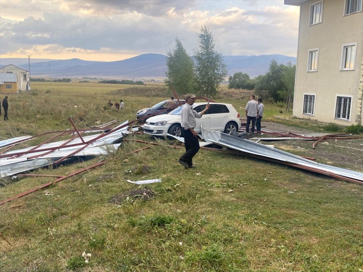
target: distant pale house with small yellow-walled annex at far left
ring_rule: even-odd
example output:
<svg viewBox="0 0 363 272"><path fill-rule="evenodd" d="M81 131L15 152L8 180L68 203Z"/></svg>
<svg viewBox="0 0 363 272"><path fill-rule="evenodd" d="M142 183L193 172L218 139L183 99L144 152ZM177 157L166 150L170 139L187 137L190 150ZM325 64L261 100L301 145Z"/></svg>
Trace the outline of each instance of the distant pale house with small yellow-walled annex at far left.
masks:
<svg viewBox="0 0 363 272"><path fill-rule="evenodd" d="M28 89L29 71L13 64L0 68L0 93L25 92Z"/></svg>

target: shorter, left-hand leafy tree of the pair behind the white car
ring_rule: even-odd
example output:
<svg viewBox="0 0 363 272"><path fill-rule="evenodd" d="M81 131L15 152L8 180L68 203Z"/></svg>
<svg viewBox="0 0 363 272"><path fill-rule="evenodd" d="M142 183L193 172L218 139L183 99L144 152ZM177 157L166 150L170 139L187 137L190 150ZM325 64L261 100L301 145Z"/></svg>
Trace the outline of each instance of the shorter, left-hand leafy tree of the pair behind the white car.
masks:
<svg viewBox="0 0 363 272"><path fill-rule="evenodd" d="M178 37L175 38L175 49L168 51L166 57L166 85L173 86L181 94L190 93L194 89L194 63Z"/></svg>

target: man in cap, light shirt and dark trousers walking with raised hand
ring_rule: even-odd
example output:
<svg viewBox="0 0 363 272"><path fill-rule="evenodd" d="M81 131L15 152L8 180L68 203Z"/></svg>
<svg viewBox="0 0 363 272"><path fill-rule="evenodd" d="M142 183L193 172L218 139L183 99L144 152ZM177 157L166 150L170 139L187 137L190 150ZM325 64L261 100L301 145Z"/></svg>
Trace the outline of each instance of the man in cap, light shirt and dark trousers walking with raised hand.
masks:
<svg viewBox="0 0 363 272"><path fill-rule="evenodd" d="M209 104L201 112L193 110L192 105L195 101L195 95L187 94L185 96L185 105L181 109L181 126L184 137L185 153L179 159L179 163L185 168L195 168L193 165L193 157L199 150L199 141L197 132L194 130L196 126L195 118L201 118L209 109Z"/></svg>

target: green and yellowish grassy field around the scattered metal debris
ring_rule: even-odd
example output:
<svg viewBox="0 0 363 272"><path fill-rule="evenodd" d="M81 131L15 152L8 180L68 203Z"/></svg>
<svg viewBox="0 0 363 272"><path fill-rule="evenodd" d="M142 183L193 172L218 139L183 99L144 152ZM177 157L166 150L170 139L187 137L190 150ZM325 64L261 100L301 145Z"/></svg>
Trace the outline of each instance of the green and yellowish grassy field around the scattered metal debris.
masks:
<svg viewBox="0 0 363 272"><path fill-rule="evenodd" d="M162 86L52 82L50 90L34 82L32 88L9 95L0 140L71 128L68 117L78 127L133 120L138 109L171 95ZM217 100L243 113L249 95L223 86ZM123 99L125 109L108 109L108 99ZM264 120L290 118L278 113L280 105L264 104ZM177 162L183 149L158 142L132 155L145 145L125 142L103 158L35 171L64 175L107 161L52 185L49 194L39 190L0 206L0 271L363 271L361 186L207 150L196 155L197 169L185 170ZM154 178L162 182L126 182ZM2 179L0 199L48 181ZM144 188L154 198L140 199ZM88 263L83 252L91 254Z"/></svg>

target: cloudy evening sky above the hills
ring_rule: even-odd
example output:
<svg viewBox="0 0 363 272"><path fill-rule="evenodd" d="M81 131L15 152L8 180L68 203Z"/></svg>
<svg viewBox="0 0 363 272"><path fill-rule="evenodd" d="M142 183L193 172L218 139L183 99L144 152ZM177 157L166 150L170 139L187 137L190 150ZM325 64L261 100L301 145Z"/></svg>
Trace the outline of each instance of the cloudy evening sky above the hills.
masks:
<svg viewBox="0 0 363 272"><path fill-rule="evenodd" d="M299 7L284 0L0 0L0 57L115 61L191 55L202 25L224 55L296 56Z"/></svg>

